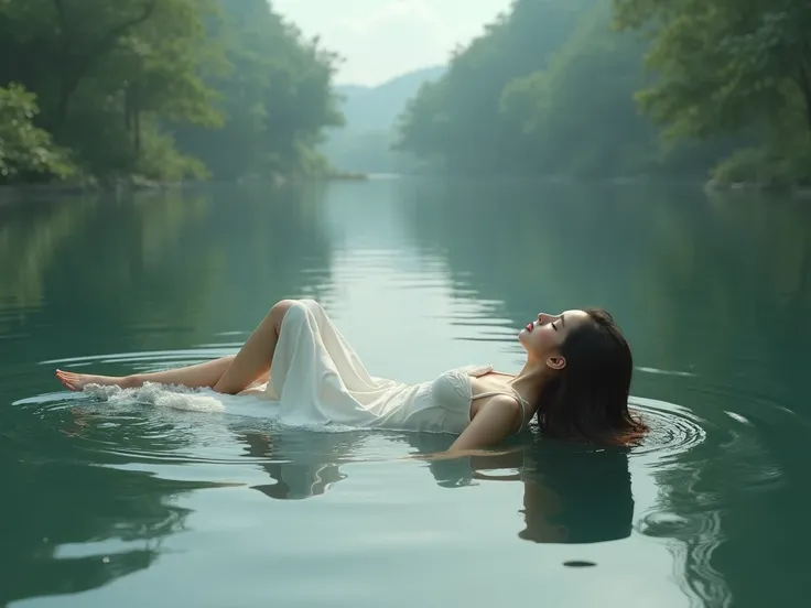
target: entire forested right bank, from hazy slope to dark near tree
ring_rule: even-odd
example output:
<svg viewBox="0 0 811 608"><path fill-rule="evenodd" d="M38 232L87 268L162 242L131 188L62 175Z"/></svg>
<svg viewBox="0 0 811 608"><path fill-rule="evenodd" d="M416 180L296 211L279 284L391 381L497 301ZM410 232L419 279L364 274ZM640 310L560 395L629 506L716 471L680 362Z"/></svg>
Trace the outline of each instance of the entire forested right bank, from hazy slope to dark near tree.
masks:
<svg viewBox="0 0 811 608"><path fill-rule="evenodd" d="M400 118L461 174L811 178L811 4L515 0Z"/></svg>

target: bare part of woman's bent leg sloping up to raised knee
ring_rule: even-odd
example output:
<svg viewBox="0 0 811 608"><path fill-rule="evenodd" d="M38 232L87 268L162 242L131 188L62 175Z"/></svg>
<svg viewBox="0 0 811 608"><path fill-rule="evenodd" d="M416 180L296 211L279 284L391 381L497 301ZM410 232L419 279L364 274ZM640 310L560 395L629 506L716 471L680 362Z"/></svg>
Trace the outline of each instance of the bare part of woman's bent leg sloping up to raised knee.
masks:
<svg viewBox="0 0 811 608"><path fill-rule="evenodd" d="M214 386L215 391L236 394L270 371L282 319L294 303L292 300L282 300L270 310Z"/></svg>

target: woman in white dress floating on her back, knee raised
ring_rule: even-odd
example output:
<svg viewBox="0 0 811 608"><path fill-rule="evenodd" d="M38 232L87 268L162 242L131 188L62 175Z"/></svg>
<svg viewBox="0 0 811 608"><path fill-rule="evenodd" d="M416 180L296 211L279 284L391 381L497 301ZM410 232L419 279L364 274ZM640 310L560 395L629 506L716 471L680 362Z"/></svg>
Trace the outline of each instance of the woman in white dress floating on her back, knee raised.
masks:
<svg viewBox="0 0 811 608"><path fill-rule="evenodd" d="M533 416L551 437L624 445L644 434L628 412L630 349L607 313L539 314L518 339L527 351L518 374L471 366L404 384L370 376L318 303L284 300L236 356L155 373L56 377L71 390L155 382L259 395L293 425L453 433L451 455L498 444Z"/></svg>

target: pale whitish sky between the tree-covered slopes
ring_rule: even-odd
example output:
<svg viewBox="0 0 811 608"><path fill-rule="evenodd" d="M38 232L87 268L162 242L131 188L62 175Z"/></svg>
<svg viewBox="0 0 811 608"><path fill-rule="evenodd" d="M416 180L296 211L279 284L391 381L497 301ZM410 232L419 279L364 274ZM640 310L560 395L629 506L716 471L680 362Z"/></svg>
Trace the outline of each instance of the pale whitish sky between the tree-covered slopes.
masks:
<svg viewBox="0 0 811 608"><path fill-rule="evenodd" d="M510 0L271 0L306 36L344 57L337 84L377 85L444 64Z"/></svg>

